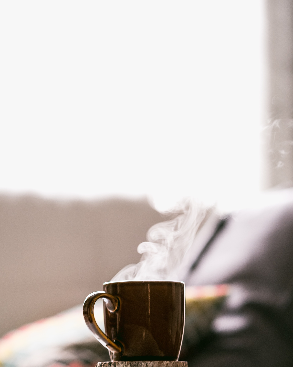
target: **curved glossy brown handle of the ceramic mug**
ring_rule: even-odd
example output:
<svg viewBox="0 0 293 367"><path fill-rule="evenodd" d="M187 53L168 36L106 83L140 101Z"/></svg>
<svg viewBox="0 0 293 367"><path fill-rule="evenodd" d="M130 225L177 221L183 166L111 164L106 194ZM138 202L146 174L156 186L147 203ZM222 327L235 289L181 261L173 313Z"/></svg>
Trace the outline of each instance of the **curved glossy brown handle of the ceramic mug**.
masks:
<svg viewBox="0 0 293 367"><path fill-rule="evenodd" d="M103 298L106 303L106 307L109 312L114 313L119 308L119 299L114 297L110 293L106 293L103 291L93 292L86 297L84 301L84 318L85 323L88 326L89 330L93 333L93 336L103 344L107 349L109 349L112 353L122 353L122 348L120 345L115 344L110 338L107 337L105 333L99 328L96 320L94 319L94 304L97 299Z"/></svg>

